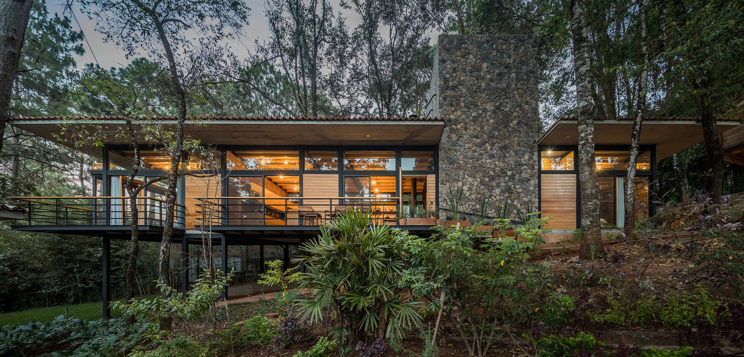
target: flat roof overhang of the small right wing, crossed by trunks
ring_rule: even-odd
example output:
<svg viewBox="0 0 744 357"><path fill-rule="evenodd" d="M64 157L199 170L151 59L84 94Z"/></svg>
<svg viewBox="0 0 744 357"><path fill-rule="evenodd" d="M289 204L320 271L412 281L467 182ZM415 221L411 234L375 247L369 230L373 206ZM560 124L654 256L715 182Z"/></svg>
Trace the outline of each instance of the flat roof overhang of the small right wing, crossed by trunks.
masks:
<svg viewBox="0 0 744 357"><path fill-rule="evenodd" d="M739 121L718 121L718 132L737 127ZM595 120L594 145L630 145L633 121ZM578 145L576 120L560 119L538 139L538 145ZM703 142L702 124L693 120L649 120L641 127L641 145L656 145L656 159L661 160Z"/></svg>

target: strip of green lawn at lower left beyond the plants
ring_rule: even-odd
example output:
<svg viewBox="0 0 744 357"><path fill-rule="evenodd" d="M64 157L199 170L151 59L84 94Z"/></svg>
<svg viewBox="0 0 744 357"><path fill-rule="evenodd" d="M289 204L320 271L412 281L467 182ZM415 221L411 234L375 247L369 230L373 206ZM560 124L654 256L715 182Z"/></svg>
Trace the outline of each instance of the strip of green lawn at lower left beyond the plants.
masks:
<svg viewBox="0 0 744 357"><path fill-rule="evenodd" d="M144 298L146 297L137 297L138 300ZM124 299L121 299L121 301L124 301ZM0 326L25 325L32 320L38 322L51 322L51 320L54 320L54 317L64 315L65 308L69 310L71 317L78 317L83 320L97 320L103 316L103 303L99 301L97 303L42 307L38 309L28 309L0 314ZM112 312L113 317L118 317L119 315L120 314Z"/></svg>

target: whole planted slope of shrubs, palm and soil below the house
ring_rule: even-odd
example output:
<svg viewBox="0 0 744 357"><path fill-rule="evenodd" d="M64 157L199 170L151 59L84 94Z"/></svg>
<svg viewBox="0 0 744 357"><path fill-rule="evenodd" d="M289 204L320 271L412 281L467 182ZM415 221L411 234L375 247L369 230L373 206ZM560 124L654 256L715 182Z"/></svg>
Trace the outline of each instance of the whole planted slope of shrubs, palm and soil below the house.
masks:
<svg viewBox="0 0 744 357"><path fill-rule="evenodd" d="M425 239L375 225L368 212L347 212L304 245L294 269L272 263L261 280L281 285L275 300L217 307L229 274L206 271L188 297L114 303L137 317L131 325L62 315L3 327L0 349L11 356L718 356L744 347L740 207L737 198L716 204L705 194L688 206L664 206L664 215L639 221L639 241L618 233L605 255L589 261L575 250L541 250L550 218L537 215L518 227L493 222L516 236L484 236L475 224L437 227ZM164 316L173 320L170 331ZM620 336L629 343L618 344Z"/></svg>

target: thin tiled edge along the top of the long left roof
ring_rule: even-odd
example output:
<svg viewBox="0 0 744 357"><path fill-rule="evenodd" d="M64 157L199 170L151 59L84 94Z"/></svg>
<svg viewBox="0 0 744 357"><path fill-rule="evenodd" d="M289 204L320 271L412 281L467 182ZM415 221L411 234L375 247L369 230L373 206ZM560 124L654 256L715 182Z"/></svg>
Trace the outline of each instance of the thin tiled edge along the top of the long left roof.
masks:
<svg viewBox="0 0 744 357"><path fill-rule="evenodd" d="M23 116L10 121L60 121L60 120L124 120L124 116ZM137 119L176 120L176 116L132 117ZM444 121L443 118L420 116L187 116L190 120L233 121Z"/></svg>

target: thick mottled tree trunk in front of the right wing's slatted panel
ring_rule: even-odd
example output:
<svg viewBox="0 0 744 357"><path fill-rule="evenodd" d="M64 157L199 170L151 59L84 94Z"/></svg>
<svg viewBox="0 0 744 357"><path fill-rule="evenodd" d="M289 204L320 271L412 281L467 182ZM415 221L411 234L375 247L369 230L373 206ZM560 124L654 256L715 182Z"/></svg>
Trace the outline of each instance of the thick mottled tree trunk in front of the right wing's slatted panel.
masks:
<svg viewBox="0 0 744 357"><path fill-rule="evenodd" d="M571 38L574 41L574 70L579 126L579 182L581 189L580 259L604 254L600 226L600 186L594 161L594 120L591 118L591 74L586 15L582 0L569 1Z"/></svg>

